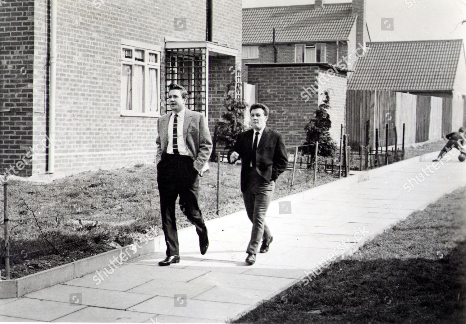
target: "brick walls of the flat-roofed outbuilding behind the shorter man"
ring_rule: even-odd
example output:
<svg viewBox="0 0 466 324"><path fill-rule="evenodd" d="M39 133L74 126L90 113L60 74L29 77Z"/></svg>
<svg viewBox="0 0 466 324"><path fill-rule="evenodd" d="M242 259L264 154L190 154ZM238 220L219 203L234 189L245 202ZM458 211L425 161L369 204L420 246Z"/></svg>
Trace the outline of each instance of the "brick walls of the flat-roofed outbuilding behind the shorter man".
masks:
<svg viewBox="0 0 466 324"><path fill-rule="evenodd" d="M322 73L325 69L315 66L249 67L249 83L258 83L258 102L270 109L267 125L283 134L287 146L302 145L306 138L303 128L315 116L319 96L306 96L303 88L314 84L319 71ZM325 87L331 88L333 93L329 111L334 124L331 134L338 142L345 113L346 76L334 76Z"/></svg>

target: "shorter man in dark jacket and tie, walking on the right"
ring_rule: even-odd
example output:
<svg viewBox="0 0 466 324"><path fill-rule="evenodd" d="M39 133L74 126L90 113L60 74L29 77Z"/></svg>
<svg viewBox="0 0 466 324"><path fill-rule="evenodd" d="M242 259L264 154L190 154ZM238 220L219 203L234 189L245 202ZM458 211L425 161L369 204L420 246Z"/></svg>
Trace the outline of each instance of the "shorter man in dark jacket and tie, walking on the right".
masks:
<svg viewBox="0 0 466 324"><path fill-rule="evenodd" d="M260 253L267 252L273 240L265 214L274 196L275 181L287 168L288 154L283 136L266 126L268 107L254 103L249 111L253 129L238 134L229 159L231 163L241 159L241 193L247 216L253 223L246 262L254 264L260 240Z"/></svg>

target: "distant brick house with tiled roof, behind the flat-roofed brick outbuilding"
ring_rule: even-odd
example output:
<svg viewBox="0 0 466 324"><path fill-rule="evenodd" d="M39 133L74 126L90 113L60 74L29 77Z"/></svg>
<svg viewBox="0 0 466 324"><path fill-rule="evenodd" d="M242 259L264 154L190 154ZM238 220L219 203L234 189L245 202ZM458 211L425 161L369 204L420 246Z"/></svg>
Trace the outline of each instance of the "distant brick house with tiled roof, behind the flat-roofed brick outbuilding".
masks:
<svg viewBox="0 0 466 324"><path fill-rule="evenodd" d="M356 50L370 40L365 11L365 0L243 9L243 81L247 63L341 62L352 69Z"/></svg>

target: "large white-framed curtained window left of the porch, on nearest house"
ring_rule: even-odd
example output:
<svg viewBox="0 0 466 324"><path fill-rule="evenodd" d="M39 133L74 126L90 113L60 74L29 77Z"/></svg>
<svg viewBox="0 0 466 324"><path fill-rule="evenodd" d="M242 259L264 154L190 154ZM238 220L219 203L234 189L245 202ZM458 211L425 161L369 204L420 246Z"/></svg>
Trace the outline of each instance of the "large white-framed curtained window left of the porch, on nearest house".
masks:
<svg viewBox="0 0 466 324"><path fill-rule="evenodd" d="M122 44L121 65L121 114L159 116L160 52Z"/></svg>

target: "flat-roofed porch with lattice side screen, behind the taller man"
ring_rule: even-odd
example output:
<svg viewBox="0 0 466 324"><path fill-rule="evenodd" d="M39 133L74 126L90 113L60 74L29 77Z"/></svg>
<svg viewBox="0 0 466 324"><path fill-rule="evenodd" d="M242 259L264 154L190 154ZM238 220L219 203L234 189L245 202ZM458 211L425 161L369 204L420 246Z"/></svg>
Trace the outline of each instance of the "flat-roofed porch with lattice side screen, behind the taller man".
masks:
<svg viewBox="0 0 466 324"><path fill-rule="evenodd" d="M186 107L208 117L209 57L234 57L236 61L239 50L210 41L165 41L165 52L166 111L170 111L168 86L178 83L189 92Z"/></svg>

